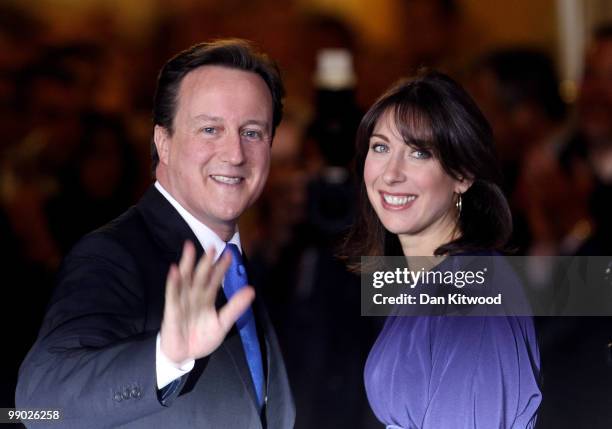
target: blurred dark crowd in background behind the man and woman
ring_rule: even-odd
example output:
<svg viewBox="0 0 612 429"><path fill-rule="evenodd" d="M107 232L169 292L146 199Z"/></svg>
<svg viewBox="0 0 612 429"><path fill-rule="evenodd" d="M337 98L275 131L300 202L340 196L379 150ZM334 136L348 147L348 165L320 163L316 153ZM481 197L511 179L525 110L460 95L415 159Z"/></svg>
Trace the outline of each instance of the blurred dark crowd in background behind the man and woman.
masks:
<svg viewBox="0 0 612 429"><path fill-rule="evenodd" d="M268 185L241 236L284 348L298 428L378 427L362 371L381 321L359 317L359 278L336 255L356 207L350 167L361 114L417 67L450 73L491 122L517 254L612 254L611 25L589 40L572 99L562 97L545 47L462 55L469 29L460 1L398 2L402 42L386 49L300 2L216 3L159 14L140 38L122 37L110 8L93 8L58 36L31 7L0 3L3 302L21 315L2 312L10 351L0 406L13 406L18 366L62 257L151 183L157 71L215 37L253 40L278 62L287 86ZM598 376L610 380L610 367L604 371Z"/></svg>

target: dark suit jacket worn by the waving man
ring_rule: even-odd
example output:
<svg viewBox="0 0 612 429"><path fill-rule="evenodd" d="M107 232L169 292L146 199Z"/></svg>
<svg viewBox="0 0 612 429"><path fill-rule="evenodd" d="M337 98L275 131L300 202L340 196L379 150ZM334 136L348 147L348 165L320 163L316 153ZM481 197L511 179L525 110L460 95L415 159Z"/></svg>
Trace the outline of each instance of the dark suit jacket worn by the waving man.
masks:
<svg viewBox="0 0 612 429"><path fill-rule="evenodd" d="M292 428L285 366L258 299L267 376L263 419L235 329L160 403L155 341L168 269L186 239L201 255L189 226L154 187L84 237L64 260L38 340L21 366L17 407L62 409L64 420L52 427Z"/></svg>

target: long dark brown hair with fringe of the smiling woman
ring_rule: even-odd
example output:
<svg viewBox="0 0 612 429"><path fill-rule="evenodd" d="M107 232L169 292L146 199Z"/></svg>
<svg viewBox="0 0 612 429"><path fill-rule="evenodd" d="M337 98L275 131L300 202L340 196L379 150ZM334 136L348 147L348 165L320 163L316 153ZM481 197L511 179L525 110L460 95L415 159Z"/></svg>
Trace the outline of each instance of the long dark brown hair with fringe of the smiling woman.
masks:
<svg viewBox="0 0 612 429"><path fill-rule="evenodd" d="M406 144L430 151L454 179L473 181L462 195L460 236L438 247L435 254L502 249L512 232L512 217L499 186L501 172L491 127L459 84L442 73L424 70L383 94L357 130L355 173L360 211L344 247L353 268L359 267L359 261L352 258L359 256L403 254L397 236L386 231L378 219L363 181L370 136L387 111L393 113Z"/></svg>

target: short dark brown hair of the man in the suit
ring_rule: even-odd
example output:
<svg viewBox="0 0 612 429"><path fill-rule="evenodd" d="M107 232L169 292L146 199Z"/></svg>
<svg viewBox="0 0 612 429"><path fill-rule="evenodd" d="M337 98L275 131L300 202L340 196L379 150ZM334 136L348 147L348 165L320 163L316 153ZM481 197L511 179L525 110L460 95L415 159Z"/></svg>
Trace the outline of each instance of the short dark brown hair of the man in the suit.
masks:
<svg viewBox="0 0 612 429"><path fill-rule="evenodd" d="M272 96L272 136L283 116L283 82L277 65L242 39L222 39L200 43L171 58L159 72L153 99L153 124L164 127L172 135L174 117L183 78L202 66L223 66L259 75ZM151 140L153 174L159 163L155 142Z"/></svg>

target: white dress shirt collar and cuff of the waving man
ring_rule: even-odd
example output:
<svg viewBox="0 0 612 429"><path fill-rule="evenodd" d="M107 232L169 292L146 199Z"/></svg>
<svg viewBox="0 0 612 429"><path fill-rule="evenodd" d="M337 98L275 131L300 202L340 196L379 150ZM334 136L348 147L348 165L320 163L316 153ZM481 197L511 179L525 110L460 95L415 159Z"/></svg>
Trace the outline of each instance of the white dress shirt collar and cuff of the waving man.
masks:
<svg viewBox="0 0 612 429"><path fill-rule="evenodd" d="M176 201L172 195L168 193L164 189L164 187L158 182L155 182L155 187L157 190L168 200L170 204L176 209L179 215L187 222L189 228L193 231L194 235L200 242L200 245L204 250L208 250L211 248L215 249L215 260L217 260L223 249L225 249L225 241L221 240L217 234L213 232L212 229L204 225L198 219L195 218L191 213L189 213L183 206ZM240 234L238 233L238 228L236 228L236 232L230 239L229 243L233 243L238 246L240 253L242 253L242 246L240 245ZM186 360L185 362L181 362L180 364L175 364L162 352L160 347L160 334L157 334L157 342L155 346L155 369L157 372L157 388L162 389L172 381L177 378L187 374L189 371L193 369L195 361L193 359Z"/></svg>

